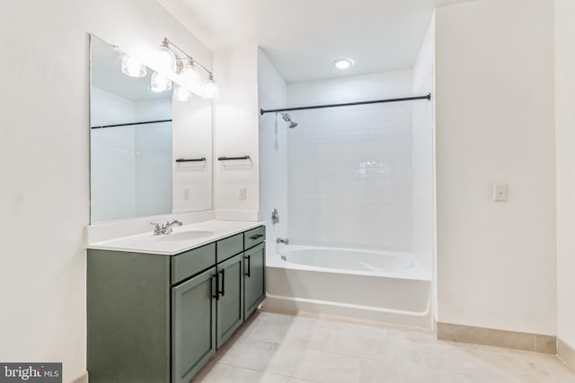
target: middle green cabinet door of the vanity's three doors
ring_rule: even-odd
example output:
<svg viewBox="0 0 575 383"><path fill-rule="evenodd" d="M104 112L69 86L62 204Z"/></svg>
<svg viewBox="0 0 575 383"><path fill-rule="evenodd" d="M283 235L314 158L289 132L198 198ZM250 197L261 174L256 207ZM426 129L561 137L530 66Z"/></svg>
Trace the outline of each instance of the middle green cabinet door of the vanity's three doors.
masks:
<svg viewBox="0 0 575 383"><path fill-rule="evenodd" d="M217 347L243 323L243 253L217 265Z"/></svg>

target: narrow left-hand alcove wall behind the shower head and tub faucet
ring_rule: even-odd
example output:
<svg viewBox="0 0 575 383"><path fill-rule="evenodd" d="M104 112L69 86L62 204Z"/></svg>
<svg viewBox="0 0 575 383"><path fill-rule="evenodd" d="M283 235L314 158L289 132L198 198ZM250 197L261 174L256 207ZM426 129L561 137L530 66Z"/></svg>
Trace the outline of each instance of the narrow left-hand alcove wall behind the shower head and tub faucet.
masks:
<svg viewBox="0 0 575 383"><path fill-rule="evenodd" d="M258 99L261 109L286 108L288 87L265 53L258 49ZM260 116L260 221L266 222L268 251L288 237L288 123L276 113ZM271 223L278 209L279 223Z"/></svg>

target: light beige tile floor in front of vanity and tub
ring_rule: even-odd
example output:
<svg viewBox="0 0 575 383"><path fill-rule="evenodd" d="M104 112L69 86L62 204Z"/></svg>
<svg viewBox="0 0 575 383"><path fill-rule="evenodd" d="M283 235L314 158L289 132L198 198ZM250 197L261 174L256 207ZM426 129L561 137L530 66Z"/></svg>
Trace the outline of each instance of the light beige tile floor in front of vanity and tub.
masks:
<svg viewBox="0 0 575 383"><path fill-rule="evenodd" d="M255 314L196 383L575 383L553 355L438 341L426 331Z"/></svg>

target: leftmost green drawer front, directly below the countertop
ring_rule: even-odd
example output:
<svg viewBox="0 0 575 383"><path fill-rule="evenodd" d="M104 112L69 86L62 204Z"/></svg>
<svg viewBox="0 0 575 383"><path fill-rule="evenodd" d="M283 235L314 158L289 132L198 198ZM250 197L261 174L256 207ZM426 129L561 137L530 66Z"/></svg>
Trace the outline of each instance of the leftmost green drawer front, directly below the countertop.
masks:
<svg viewBox="0 0 575 383"><path fill-rule="evenodd" d="M216 264L216 244L194 248L172 257L172 284L198 274Z"/></svg>

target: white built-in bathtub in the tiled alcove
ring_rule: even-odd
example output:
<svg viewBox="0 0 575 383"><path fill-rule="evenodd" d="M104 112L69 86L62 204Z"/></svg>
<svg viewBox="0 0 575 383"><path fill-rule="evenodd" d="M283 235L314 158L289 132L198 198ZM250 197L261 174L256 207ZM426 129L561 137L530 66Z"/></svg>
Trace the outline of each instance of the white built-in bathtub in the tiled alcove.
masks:
<svg viewBox="0 0 575 383"><path fill-rule="evenodd" d="M431 273L411 254L365 249L266 249L266 309L431 328Z"/></svg>

